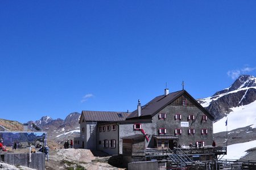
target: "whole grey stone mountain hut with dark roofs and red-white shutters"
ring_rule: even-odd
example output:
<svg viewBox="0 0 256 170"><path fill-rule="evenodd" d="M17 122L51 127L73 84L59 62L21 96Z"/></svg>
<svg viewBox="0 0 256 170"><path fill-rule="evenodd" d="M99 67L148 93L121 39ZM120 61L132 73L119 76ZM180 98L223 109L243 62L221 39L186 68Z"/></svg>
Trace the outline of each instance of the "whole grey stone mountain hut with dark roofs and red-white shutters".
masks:
<svg viewBox="0 0 256 170"><path fill-rule="evenodd" d="M212 145L213 117L187 91L152 99L131 113L82 111L75 148L123 154L123 139L144 138L144 148ZM140 137L139 137L140 136Z"/></svg>

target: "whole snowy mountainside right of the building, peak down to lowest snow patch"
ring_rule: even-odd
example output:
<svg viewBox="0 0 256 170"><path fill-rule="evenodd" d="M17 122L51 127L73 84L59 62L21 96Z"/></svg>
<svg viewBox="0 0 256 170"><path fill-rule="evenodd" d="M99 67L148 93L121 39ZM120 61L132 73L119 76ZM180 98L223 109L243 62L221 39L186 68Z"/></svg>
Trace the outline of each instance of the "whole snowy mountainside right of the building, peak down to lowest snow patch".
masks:
<svg viewBox="0 0 256 170"><path fill-rule="evenodd" d="M215 117L214 141L228 145L223 159L256 160L256 78L241 75L229 88L198 101Z"/></svg>

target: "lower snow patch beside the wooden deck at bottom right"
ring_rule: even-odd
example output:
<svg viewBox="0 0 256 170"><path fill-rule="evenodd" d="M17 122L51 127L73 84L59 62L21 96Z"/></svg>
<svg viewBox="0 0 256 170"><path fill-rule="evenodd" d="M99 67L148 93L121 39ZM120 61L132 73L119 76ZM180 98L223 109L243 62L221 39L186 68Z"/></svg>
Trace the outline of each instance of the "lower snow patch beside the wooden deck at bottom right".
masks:
<svg viewBox="0 0 256 170"><path fill-rule="evenodd" d="M222 159L240 159L247 154L246 150L249 150L255 146L256 141L229 145L227 155L224 155Z"/></svg>

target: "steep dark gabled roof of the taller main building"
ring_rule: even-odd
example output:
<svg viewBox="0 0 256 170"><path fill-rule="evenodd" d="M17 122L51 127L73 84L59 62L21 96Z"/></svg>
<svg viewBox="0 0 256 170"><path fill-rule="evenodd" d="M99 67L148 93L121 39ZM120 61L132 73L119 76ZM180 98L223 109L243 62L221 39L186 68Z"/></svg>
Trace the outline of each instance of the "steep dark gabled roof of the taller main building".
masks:
<svg viewBox="0 0 256 170"><path fill-rule="evenodd" d="M201 111L203 111L205 114L207 114L207 116L213 119L212 115L210 115L207 110L205 110L199 103L197 103L197 101L193 99L193 97L189 95L188 92L185 90L172 92L166 96L161 95L161 96L155 97L153 100L151 100L150 102L148 102L146 105L142 107L141 117L154 116L157 112L162 110L164 107L166 107L168 104L170 104L172 101L177 99L177 97L179 97L184 93L189 97L191 97L191 99L195 102L196 106L201 109ZM130 118L138 118L138 109L136 109L131 114L129 114L129 116L126 119L130 119Z"/></svg>

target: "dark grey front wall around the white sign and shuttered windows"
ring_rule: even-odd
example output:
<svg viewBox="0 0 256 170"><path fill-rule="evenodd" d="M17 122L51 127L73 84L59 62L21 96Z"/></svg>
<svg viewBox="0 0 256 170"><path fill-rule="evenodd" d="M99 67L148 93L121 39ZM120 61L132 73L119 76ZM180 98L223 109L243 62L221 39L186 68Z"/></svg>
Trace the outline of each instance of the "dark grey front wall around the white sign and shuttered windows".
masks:
<svg viewBox="0 0 256 170"><path fill-rule="evenodd" d="M159 113L166 113L165 120L159 120ZM213 122L208 118L202 121L205 115L199 108L183 105L168 105L152 118L152 122L156 124L156 129L166 128L166 134L175 135L175 129L182 129L182 134L175 135L179 138L177 145L195 145L196 141L204 141L205 145L212 145L213 141ZM181 120L175 120L175 114L181 114ZM195 120L188 120L188 115L195 115ZM181 127L180 122L189 122L189 128ZM195 134L188 134L188 129L195 129ZM208 134L201 134L201 129L207 129Z"/></svg>

